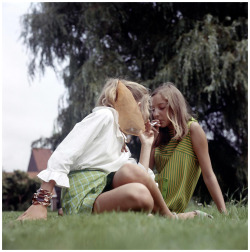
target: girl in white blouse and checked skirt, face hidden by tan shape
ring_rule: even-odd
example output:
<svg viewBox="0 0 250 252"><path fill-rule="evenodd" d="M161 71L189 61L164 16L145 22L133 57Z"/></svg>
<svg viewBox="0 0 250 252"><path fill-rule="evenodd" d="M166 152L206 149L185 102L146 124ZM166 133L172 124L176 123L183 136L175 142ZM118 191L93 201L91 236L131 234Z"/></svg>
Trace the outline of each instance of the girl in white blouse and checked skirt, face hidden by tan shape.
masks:
<svg viewBox="0 0 250 252"><path fill-rule="evenodd" d="M127 107L122 111L124 106L119 102L124 99ZM149 99L148 90L142 85L109 79L97 107L76 124L53 152L47 169L38 174L43 181L41 188L18 220L46 219L55 185L63 188L62 207L66 214L133 210L170 218L193 218L195 212L178 216L171 213L150 176L149 155L154 132L148 120ZM136 131L134 123L140 117L145 131ZM135 126L127 126L128 123ZM126 146L128 129L136 132L141 141L138 164Z"/></svg>

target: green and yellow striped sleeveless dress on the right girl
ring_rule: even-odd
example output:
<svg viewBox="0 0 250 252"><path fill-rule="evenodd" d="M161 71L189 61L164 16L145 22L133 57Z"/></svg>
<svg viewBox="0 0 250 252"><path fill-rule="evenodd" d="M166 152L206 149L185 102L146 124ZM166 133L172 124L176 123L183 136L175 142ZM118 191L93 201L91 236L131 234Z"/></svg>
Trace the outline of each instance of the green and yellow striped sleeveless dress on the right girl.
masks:
<svg viewBox="0 0 250 252"><path fill-rule="evenodd" d="M192 122L188 122L188 127ZM173 137L173 131L169 132ZM201 174L193 151L190 130L181 141L171 139L167 145L155 148L156 181L170 211L181 213L193 195Z"/></svg>

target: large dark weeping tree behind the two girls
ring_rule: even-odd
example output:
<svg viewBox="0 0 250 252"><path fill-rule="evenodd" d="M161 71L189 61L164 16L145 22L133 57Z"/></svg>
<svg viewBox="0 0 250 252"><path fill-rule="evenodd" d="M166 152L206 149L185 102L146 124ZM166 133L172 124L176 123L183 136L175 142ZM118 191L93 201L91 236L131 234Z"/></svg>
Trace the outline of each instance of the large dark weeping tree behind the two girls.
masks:
<svg viewBox="0 0 250 252"><path fill-rule="evenodd" d="M107 77L126 77L150 89L172 81L210 138L223 191L242 189L247 185L247 15L247 3L33 5L22 32L32 55L30 76L53 67L67 88L53 135L34 144L55 148L93 109ZM136 138L130 147L138 156ZM203 191L200 182L196 193L208 195Z"/></svg>

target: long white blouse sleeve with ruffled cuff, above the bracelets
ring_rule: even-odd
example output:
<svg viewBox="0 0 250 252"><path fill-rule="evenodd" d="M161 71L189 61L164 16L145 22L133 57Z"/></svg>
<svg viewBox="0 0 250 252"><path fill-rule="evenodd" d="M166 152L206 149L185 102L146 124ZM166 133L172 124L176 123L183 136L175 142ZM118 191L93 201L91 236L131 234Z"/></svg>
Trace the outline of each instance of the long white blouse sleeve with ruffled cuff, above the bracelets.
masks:
<svg viewBox="0 0 250 252"><path fill-rule="evenodd" d="M47 169L37 176L45 182L54 180L59 187L69 187L68 173L71 166L113 120L109 110L102 109L89 114L58 145L48 161Z"/></svg>

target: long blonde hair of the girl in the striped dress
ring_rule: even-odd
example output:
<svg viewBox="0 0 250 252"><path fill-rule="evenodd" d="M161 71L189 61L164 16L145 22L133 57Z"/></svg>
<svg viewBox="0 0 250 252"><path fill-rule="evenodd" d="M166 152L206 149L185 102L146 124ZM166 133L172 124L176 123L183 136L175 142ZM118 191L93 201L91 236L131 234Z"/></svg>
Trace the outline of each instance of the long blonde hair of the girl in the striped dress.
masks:
<svg viewBox="0 0 250 252"><path fill-rule="evenodd" d="M152 93L152 97L156 94L160 94L167 102L167 118L174 127L173 139L183 139L188 134L188 121L192 117L189 105L184 96L171 82L164 83L162 86L155 89ZM158 140L156 141L157 146L169 141L169 139L163 139L166 137L166 129L160 128L160 131L161 134L159 134Z"/></svg>

